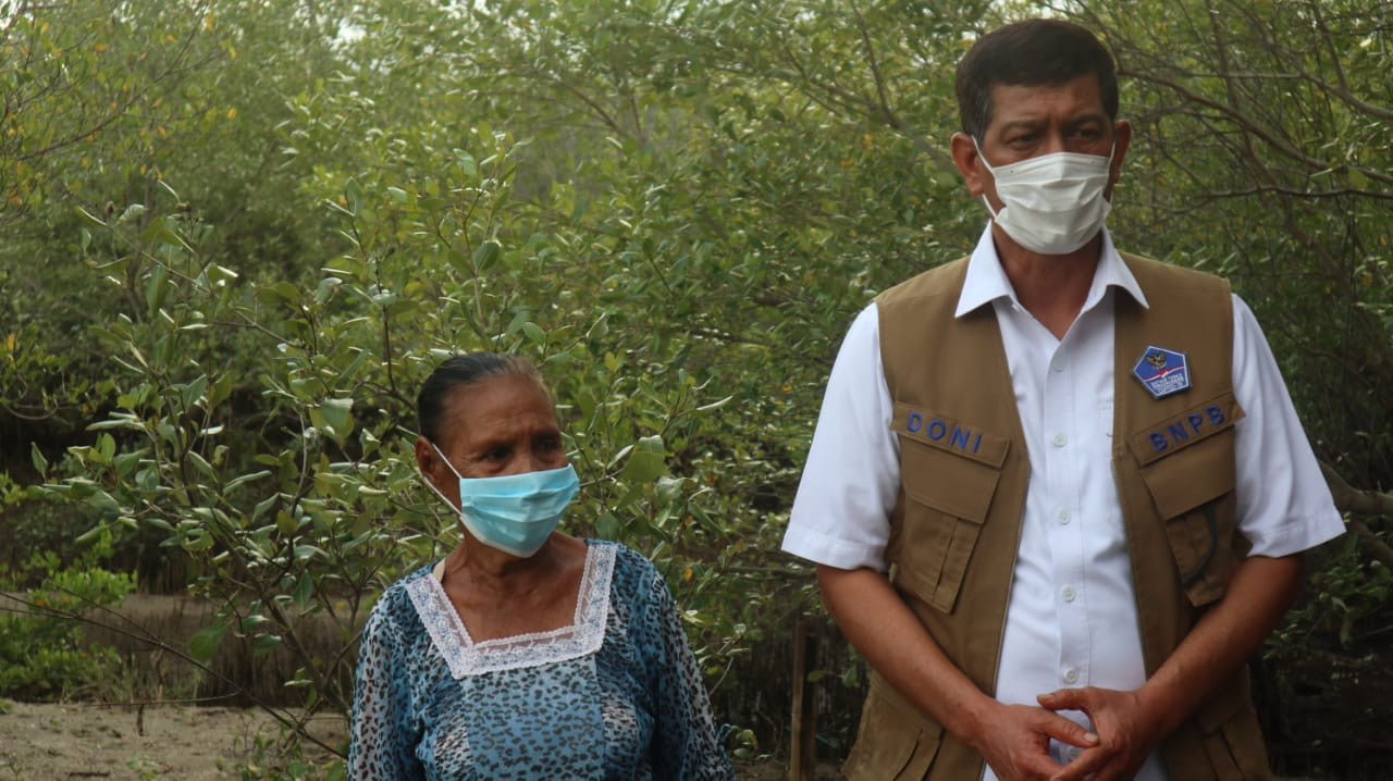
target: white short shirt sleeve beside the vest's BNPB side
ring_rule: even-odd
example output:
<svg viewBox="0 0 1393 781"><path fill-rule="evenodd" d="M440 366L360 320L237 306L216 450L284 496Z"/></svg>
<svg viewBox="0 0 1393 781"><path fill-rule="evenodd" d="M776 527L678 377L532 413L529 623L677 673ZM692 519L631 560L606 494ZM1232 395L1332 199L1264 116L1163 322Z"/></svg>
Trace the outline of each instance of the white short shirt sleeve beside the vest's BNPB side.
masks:
<svg viewBox="0 0 1393 781"><path fill-rule="evenodd" d="M1344 532L1330 489L1247 303L1233 297L1233 387L1247 413L1234 425L1238 532L1250 555L1304 551Z"/></svg>

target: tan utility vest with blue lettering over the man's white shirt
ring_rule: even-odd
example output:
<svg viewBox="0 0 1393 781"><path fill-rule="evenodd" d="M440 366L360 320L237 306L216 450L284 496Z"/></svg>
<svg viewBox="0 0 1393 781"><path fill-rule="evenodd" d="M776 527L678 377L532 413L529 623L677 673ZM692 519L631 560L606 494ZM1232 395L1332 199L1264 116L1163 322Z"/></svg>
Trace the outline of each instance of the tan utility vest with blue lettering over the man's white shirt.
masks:
<svg viewBox="0 0 1393 781"><path fill-rule="evenodd" d="M1217 277L1124 256L1149 308L1114 299L1113 478L1131 551L1146 674L1224 593L1245 550L1234 537L1233 299ZM990 305L954 317L967 260L876 298L894 401L901 486L890 581L943 652L990 695L1025 508L1029 461ZM1133 366L1183 352L1191 387L1153 398ZM1269 778L1241 670L1162 746L1174 781ZM876 672L851 780L975 781L982 757Z"/></svg>

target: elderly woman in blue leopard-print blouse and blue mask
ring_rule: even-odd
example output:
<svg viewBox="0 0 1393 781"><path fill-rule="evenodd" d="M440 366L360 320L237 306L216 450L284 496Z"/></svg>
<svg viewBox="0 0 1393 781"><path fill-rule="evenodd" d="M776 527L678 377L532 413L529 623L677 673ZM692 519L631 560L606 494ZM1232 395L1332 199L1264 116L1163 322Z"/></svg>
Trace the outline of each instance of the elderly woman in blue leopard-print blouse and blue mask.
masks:
<svg viewBox="0 0 1393 781"><path fill-rule="evenodd" d="M731 778L662 576L556 530L579 483L536 369L454 356L417 405L462 542L368 618L350 778Z"/></svg>

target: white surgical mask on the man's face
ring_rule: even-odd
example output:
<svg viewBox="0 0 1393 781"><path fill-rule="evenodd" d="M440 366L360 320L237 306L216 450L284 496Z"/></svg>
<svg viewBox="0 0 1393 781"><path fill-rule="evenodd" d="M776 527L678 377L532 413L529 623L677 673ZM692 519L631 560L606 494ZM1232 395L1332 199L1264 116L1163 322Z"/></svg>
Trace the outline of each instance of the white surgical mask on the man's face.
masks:
<svg viewBox="0 0 1393 781"><path fill-rule="evenodd" d="M972 139L976 146L976 139ZM976 156L996 180L1002 210L982 194L997 226L1031 252L1066 255L1088 244L1103 227L1112 203L1103 198L1113 152L1107 157L1056 152L993 168L976 146Z"/></svg>

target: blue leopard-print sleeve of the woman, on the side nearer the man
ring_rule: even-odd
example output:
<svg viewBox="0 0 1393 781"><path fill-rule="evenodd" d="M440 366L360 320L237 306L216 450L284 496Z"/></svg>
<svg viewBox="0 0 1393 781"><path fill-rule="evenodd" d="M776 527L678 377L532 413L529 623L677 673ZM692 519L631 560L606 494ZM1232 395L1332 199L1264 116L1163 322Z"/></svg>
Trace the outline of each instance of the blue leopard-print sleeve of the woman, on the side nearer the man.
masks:
<svg viewBox="0 0 1393 781"><path fill-rule="evenodd" d="M674 781L734 780L730 759L710 714L710 700L696 657L687 645L677 603L667 583L652 574L644 610L644 632L652 649L656 721L653 724L653 777Z"/></svg>

